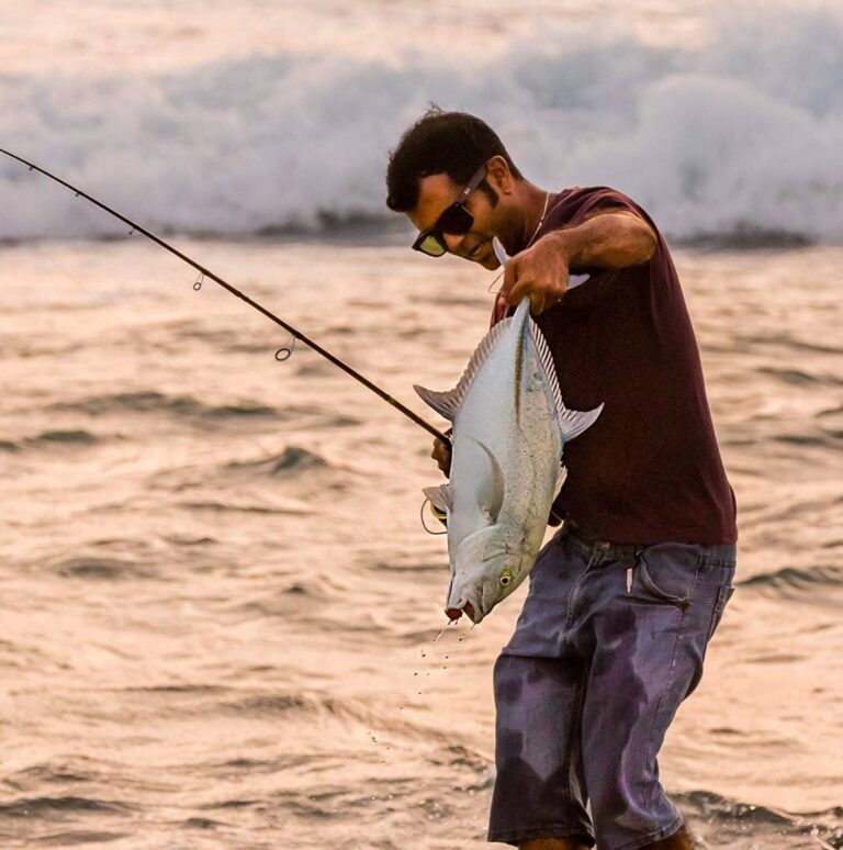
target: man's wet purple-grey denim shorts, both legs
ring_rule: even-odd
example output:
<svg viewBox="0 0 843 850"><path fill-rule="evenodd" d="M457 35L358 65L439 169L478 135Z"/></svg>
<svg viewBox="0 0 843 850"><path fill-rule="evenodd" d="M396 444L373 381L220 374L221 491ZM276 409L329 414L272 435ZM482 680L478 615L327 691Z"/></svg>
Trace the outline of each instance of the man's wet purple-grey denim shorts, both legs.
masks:
<svg viewBox="0 0 843 850"><path fill-rule="evenodd" d="M490 841L596 836L600 850L634 850L682 826L656 756L702 675L734 559L733 545L620 545L564 527L541 550L495 664Z"/></svg>

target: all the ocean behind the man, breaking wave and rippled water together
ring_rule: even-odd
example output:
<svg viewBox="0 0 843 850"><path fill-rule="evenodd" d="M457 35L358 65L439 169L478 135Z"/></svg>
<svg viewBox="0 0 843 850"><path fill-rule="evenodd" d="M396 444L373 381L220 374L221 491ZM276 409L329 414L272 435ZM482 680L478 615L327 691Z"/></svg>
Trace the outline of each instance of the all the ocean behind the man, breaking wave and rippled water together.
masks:
<svg viewBox="0 0 843 850"><path fill-rule="evenodd" d="M741 534L662 774L702 847L843 847L838 10L42 7L0 9L0 147L424 416L412 384L457 380L493 277L383 213L426 101L484 114L548 188L651 211ZM0 237L0 847L485 847L522 591L442 631L426 433L5 159Z"/></svg>

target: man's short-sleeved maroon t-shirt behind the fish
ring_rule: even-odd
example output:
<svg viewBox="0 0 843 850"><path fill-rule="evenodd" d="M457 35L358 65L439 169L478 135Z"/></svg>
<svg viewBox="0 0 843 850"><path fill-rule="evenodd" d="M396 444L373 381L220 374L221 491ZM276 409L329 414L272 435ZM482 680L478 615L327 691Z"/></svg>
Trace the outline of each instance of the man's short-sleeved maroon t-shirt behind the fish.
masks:
<svg viewBox="0 0 843 850"><path fill-rule="evenodd" d="M734 543L734 494L694 329L667 245L650 216L614 189L567 189L553 199L536 238L610 209L641 215L659 245L640 266L572 268L589 279L536 320L565 405L605 405L594 425L565 445L567 480L554 512L617 543ZM503 312L498 303L495 318Z"/></svg>

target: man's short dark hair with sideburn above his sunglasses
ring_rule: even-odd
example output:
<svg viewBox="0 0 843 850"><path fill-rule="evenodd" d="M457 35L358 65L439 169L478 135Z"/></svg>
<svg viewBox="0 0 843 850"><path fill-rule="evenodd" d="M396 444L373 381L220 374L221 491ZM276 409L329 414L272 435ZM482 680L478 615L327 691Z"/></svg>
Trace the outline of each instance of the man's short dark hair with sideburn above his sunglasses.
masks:
<svg viewBox="0 0 843 850"><path fill-rule="evenodd" d="M395 212L412 210L418 203L420 177L446 174L457 183L468 183L477 168L495 155L504 157L513 177L522 179L504 143L488 124L468 112L442 112L431 105L405 131L390 154L386 205ZM485 180L481 188L494 193ZM496 193L494 200L497 200Z"/></svg>

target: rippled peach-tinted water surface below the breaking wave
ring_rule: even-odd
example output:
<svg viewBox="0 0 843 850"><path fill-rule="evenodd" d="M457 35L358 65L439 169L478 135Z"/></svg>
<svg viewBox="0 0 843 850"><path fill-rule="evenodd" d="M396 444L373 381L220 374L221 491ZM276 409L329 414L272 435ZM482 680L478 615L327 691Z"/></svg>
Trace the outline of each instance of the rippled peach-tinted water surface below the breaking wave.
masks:
<svg viewBox="0 0 843 850"><path fill-rule="evenodd" d="M403 247L179 245L423 415L486 325L488 276ZM843 250L676 258L741 540L663 778L706 846L843 847ZM427 435L194 280L0 253L2 846L485 846L521 594L435 640Z"/></svg>

